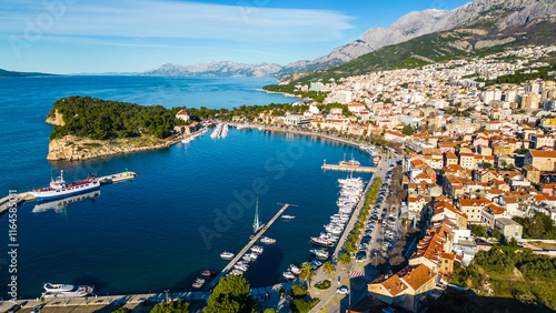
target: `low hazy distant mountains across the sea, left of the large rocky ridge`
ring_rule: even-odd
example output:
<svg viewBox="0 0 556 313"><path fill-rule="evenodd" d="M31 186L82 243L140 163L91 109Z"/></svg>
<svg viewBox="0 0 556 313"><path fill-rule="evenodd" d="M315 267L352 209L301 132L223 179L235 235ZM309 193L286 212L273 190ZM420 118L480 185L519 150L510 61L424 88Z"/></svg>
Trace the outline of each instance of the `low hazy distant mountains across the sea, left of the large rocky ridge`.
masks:
<svg viewBox="0 0 556 313"><path fill-rule="evenodd" d="M143 72L143 75L170 77L270 77L282 67L274 63L235 63L229 61L201 63L193 65L163 64L156 70Z"/></svg>

